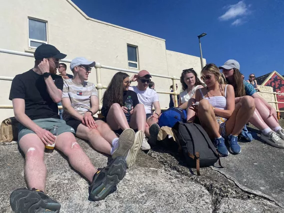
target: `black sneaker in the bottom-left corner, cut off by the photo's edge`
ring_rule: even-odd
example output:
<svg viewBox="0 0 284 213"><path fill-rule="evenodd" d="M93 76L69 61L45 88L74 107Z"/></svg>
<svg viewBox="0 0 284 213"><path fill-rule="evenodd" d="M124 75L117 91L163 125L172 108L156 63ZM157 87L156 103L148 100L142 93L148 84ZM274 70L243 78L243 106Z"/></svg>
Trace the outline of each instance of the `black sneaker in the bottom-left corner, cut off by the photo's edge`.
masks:
<svg viewBox="0 0 284 213"><path fill-rule="evenodd" d="M18 188L10 194L12 211L22 212L59 212L60 203L51 199L43 191L32 188Z"/></svg>

